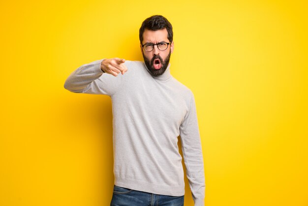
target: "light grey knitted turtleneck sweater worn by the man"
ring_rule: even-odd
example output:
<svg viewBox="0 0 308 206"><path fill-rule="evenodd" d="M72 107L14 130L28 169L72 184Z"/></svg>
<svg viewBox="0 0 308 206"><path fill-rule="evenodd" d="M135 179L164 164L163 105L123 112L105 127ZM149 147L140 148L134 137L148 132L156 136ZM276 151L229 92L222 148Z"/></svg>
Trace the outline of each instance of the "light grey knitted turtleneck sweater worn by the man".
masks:
<svg viewBox="0 0 308 206"><path fill-rule="evenodd" d="M64 88L112 100L115 185L154 194L185 194L182 156L195 206L204 206L205 178L193 93L170 73L153 76L144 62L125 61L113 76L102 60L80 66Z"/></svg>

